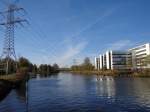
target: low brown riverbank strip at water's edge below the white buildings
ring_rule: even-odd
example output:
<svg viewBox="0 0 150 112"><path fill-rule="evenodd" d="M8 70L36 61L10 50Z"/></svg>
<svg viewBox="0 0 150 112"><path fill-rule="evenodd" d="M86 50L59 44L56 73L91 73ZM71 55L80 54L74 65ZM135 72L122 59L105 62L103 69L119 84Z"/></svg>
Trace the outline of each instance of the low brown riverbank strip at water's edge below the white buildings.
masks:
<svg viewBox="0 0 150 112"><path fill-rule="evenodd" d="M150 77L150 69L138 70L138 71L117 71L117 70L105 70L105 71L69 71L74 74L85 74L85 75L102 75L102 76L114 76L114 77Z"/></svg>

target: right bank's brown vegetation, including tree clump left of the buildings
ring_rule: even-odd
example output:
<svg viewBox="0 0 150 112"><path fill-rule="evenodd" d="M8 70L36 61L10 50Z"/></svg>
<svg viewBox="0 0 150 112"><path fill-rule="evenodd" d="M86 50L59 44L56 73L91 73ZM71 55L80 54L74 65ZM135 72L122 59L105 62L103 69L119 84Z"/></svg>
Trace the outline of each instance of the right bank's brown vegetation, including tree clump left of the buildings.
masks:
<svg viewBox="0 0 150 112"><path fill-rule="evenodd" d="M149 68L141 68L136 70L95 70L88 57L84 59L84 62L82 64L71 66L68 71L75 74L94 74L114 77L150 77Z"/></svg>

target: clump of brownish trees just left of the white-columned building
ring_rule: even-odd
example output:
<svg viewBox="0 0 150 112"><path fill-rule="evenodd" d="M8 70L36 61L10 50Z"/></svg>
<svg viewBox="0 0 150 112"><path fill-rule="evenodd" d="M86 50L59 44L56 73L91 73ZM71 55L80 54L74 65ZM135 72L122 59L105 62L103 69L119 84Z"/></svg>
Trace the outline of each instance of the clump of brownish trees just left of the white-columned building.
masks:
<svg viewBox="0 0 150 112"><path fill-rule="evenodd" d="M86 57L82 64L71 66L72 71L92 71L94 66L92 65L90 58Z"/></svg>

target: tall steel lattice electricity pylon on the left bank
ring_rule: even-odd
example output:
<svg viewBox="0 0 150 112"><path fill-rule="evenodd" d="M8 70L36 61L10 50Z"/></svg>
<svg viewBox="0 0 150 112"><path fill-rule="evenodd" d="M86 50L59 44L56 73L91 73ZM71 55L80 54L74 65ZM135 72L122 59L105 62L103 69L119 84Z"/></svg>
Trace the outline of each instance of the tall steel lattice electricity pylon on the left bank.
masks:
<svg viewBox="0 0 150 112"><path fill-rule="evenodd" d="M21 7L18 7L15 3L7 4L7 10L0 12L4 17L4 22L0 23L1 26L5 27L5 37L4 37L4 46L3 52L0 57L1 60L5 60L4 63L1 63L1 70L5 71L6 74L9 73L9 64L10 60L17 61L15 47L14 47L14 29L16 24L23 25L22 22L27 22L25 19L20 17L15 17L16 12L24 10ZM17 69L17 63L16 63Z"/></svg>

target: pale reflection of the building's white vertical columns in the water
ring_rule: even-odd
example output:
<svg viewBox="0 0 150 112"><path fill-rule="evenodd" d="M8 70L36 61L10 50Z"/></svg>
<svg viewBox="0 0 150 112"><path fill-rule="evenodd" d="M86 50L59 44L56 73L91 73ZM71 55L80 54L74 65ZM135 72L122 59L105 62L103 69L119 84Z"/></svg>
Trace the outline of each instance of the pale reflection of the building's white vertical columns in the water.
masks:
<svg viewBox="0 0 150 112"><path fill-rule="evenodd" d="M107 98L115 96L116 88L113 77L97 76L96 79L96 90L98 95L105 96Z"/></svg>

